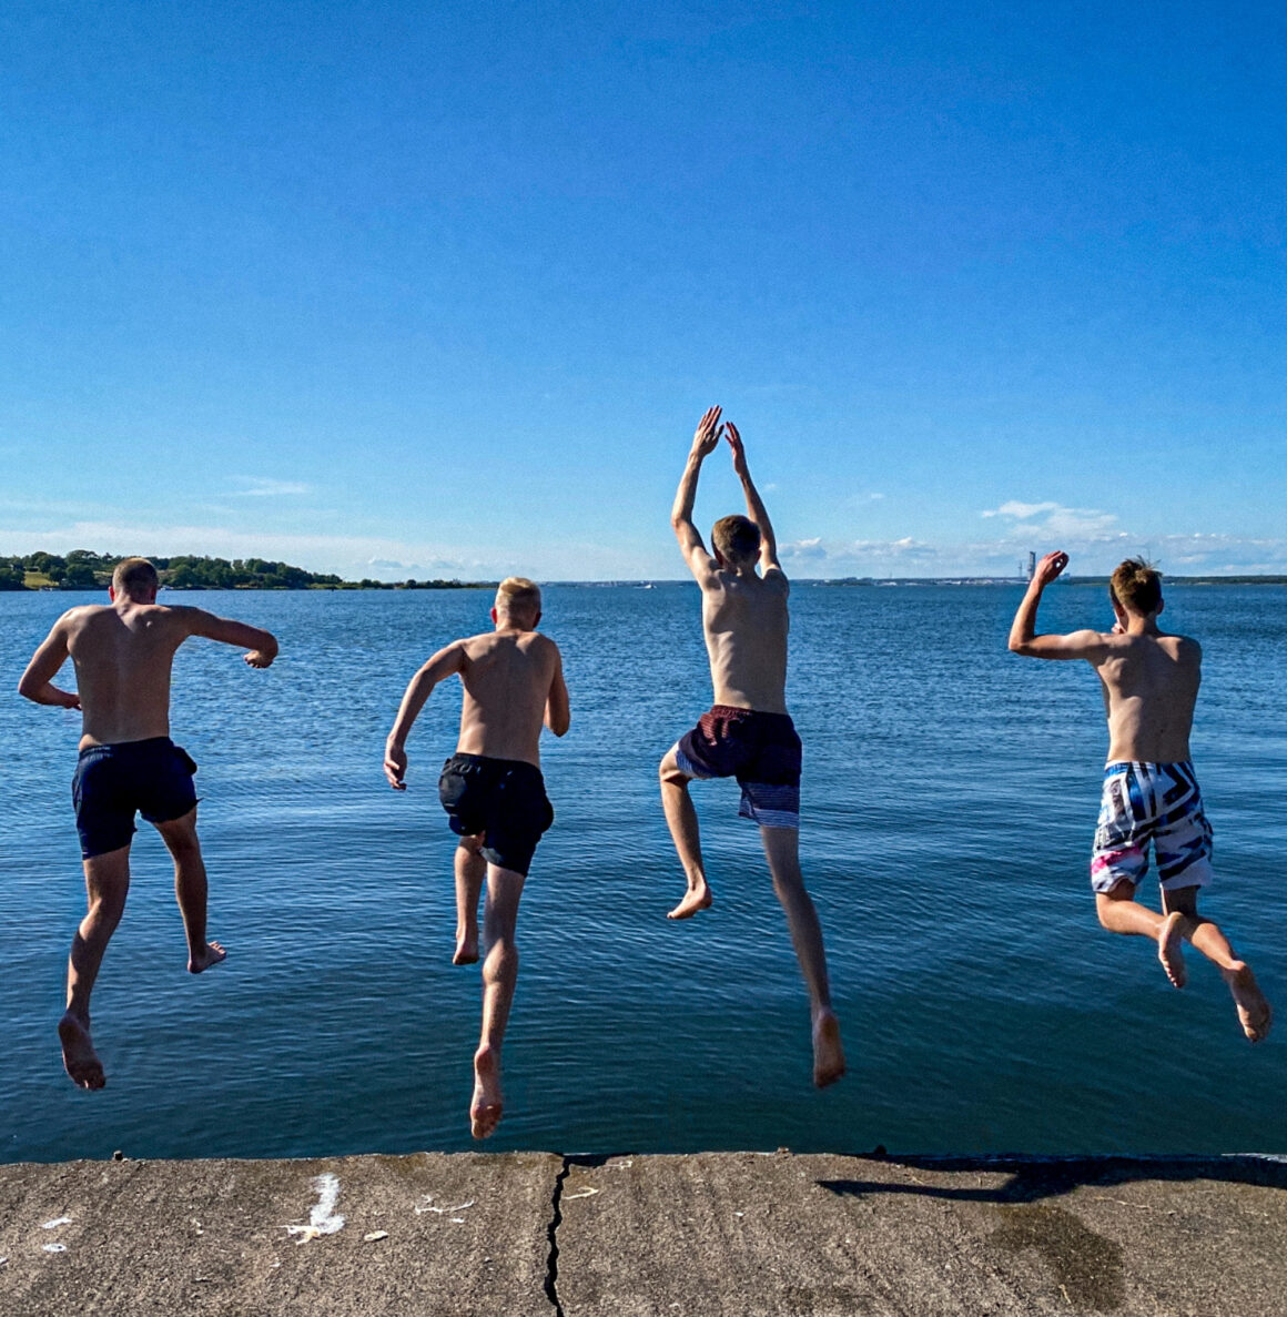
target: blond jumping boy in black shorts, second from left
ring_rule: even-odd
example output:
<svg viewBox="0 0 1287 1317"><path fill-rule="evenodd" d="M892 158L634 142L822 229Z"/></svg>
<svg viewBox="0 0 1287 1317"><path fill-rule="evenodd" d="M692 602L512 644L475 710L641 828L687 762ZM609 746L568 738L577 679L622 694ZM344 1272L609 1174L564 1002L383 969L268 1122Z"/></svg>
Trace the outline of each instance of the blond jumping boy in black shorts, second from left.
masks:
<svg viewBox="0 0 1287 1317"><path fill-rule="evenodd" d="M439 798L460 838L452 964L478 959L478 897L487 880L482 1036L469 1108L476 1139L485 1139L501 1121L501 1044L518 980L519 897L536 843L555 820L540 772L540 730L544 723L562 736L572 720L559 647L536 632L540 589L523 577L502 581L491 620L494 631L452 641L411 678L385 745L385 776L394 790L404 792L407 734L433 687L452 673L460 677L460 739L443 766Z"/></svg>

